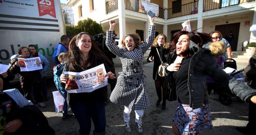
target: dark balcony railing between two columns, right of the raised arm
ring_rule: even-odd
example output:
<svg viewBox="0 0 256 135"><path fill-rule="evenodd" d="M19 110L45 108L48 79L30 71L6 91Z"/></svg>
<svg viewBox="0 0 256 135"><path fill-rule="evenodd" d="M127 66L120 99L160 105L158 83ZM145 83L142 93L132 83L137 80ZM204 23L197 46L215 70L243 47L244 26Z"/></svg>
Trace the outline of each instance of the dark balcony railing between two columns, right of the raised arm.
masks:
<svg viewBox="0 0 256 135"><path fill-rule="evenodd" d="M181 7L167 9L167 19L197 14L198 1L183 4Z"/></svg>

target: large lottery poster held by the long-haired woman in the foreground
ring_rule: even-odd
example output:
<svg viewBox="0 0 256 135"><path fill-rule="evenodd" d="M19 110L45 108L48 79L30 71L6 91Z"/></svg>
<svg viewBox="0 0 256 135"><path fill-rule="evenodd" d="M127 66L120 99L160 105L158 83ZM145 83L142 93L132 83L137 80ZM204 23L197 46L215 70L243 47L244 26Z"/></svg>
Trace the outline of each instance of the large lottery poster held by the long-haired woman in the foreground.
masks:
<svg viewBox="0 0 256 135"><path fill-rule="evenodd" d="M64 72L68 76L65 90L69 93L92 92L108 85L104 64L83 72Z"/></svg>

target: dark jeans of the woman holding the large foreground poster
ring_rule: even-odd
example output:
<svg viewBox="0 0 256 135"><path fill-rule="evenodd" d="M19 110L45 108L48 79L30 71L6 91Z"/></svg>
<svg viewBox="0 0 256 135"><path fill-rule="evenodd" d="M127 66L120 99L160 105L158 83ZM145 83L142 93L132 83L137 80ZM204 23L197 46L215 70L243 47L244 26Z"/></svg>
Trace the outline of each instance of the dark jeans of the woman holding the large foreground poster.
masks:
<svg viewBox="0 0 256 135"><path fill-rule="evenodd" d="M70 105L78 120L81 134L90 134L91 119L94 124L94 133L103 133L106 128L105 104L103 101L79 102L73 101Z"/></svg>

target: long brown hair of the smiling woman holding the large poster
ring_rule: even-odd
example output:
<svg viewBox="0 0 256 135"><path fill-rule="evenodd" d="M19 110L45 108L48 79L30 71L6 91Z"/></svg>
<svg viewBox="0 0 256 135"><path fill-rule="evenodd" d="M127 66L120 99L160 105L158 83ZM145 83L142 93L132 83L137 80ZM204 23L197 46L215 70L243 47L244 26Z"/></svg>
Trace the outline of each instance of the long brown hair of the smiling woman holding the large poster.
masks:
<svg viewBox="0 0 256 135"><path fill-rule="evenodd" d="M97 58L103 58L104 61L109 63L109 65L112 65L113 63L107 58L107 56L100 50L98 45L92 40L91 38L91 50L89 51L88 58L84 58L82 51L76 46L76 42L78 42L82 35L88 35L91 38L91 35L87 32L81 32L78 35L74 36L72 40L69 43L69 51L68 51L68 58L67 58L67 65L69 67L69 70L71 72L75 71L84 71L87 69L87 65L90 63L93 65L93 63L96 62ZM84 63L80 63L80 60L84 61Z"/></svg>

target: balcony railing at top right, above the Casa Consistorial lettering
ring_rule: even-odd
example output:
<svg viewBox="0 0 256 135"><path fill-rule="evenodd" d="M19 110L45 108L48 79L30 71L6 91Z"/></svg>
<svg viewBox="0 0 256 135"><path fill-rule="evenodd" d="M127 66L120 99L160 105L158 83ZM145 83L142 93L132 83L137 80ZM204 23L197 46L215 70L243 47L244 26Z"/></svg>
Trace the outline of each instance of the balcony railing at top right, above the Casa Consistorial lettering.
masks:
<svg viewBox="0 0 256 135"><path fill-rule="evenodd" d="M242 3L252 2L255 0L203 0L203 11L213 9L222 9L227 7L236 6Z"/></svg>

